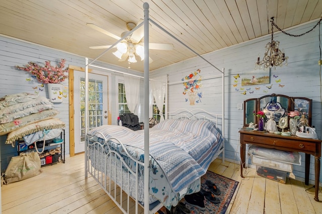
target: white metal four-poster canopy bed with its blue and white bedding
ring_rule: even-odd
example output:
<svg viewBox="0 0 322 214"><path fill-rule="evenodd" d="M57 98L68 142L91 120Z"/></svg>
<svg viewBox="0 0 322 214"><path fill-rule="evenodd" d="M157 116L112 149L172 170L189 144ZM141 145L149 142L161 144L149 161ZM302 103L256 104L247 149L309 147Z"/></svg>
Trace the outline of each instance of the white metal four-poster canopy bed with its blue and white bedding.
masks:
<svg viewBox="0 0 322 214"><path fill-rule="evenodd" d="M149 109L149 22L193 51L149 19L148 8L144 3L144 22L132 30L144 25L144 109ZM90 63L86 59L85 176L93 176L124 213L133 210L132 206L137 213L139 204L144 204L144 213L154 213L163 205L167 208L176 205L185 194L199 191L200 177L206 173L209 164L220 154L224 160L224 72L204 59L221 72L221 115L200 109L178 110L176 115L169 114L169 119L152 129L145 126L144 130L132 131L106 125L88 132L88 66L95 67L92 63L99 57ZM218 131L218 120L221 131ZM149 124L148 111L144 112L144 124Z"/></svg>

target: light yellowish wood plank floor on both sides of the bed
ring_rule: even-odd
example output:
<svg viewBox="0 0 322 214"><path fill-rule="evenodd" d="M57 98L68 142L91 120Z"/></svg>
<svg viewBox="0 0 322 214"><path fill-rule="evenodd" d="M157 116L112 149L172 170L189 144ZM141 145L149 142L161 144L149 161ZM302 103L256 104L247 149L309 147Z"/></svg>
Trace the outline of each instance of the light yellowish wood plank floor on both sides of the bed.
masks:
<svg viewBox="0 0 322 214"><path fill-rule="evenodd" d="M38 176L2 186L4 214L121 212L90 176L85 179L84 154L42 170ZM241 179L238 164L219 159L209 170L239 181L226 213L322 213L322 203L313 199L314 188L309 189L312 185L288 178L286 184L278 183L258 176L255 169L248 169Z"/></svg>

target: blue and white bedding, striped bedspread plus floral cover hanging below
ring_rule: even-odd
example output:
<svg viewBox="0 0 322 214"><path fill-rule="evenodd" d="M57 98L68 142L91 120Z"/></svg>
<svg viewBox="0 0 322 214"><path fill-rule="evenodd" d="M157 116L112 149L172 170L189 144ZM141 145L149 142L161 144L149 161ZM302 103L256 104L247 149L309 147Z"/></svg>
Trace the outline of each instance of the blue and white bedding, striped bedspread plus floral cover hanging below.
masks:
<svg viewBox="0 0 322 214"><path fill-rule="evenodd" d="M120 126L102 126L88 133L90 142L116 138L133 158L144 162L144 130L132 131ZM123 155L131 169L134 162L126 157L121 145L108 141L113 150ZM186 193L200 190L200 177L222 148L223 139L214 123L195 120L166 120L149 129L149 192L167 208L177 205ZM107 152L107 151L106 151ZM131 163L132 162L132 163ZM143 166L139 173L143 174Z"/></svg>

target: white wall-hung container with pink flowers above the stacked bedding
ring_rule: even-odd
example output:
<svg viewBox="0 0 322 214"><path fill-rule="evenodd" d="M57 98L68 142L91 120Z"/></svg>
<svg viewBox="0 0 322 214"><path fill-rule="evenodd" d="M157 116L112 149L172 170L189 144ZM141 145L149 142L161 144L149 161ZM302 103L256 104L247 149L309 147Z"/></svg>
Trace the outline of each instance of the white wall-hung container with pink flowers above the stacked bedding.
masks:
<svg viewBox="0 0 322 214"><path fill-rule="evenodd" d="M65 61L65 59L61 59L58 66L52 66L50 61L45 61L45 66L40 66L35 62L28 62L25 67L16 67L29 72L39 82L46 83L50 101L62 102L62 85L60 83L68 78L66 74L68 68L64 68Z"/></svg>

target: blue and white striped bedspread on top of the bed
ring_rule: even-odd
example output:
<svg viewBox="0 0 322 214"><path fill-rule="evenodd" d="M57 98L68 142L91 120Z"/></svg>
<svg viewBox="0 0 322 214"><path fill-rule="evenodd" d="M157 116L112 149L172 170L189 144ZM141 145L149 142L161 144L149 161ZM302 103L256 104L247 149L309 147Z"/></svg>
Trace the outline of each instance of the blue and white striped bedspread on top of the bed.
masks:
<svg viewBox="0 0 322 214"><path fill-rule="evenodd" d="M130 154L143 160L144 130L132 131L108 125L98 127L89 134L96 132L103 133L107 139L118 139L127 146ZM217 145L221 145L222 141L215 124L207 121L169 119L149 129L150 156L164 171L174 192L182 191L206 173Z"/></svg>

